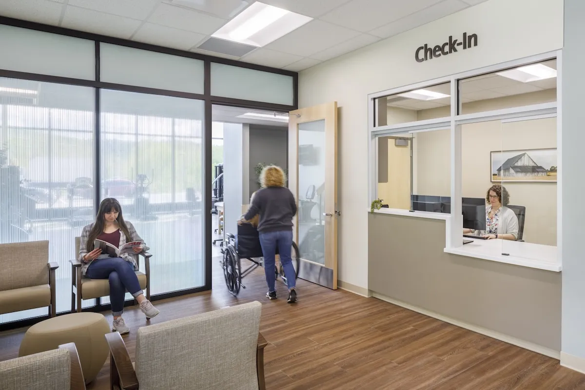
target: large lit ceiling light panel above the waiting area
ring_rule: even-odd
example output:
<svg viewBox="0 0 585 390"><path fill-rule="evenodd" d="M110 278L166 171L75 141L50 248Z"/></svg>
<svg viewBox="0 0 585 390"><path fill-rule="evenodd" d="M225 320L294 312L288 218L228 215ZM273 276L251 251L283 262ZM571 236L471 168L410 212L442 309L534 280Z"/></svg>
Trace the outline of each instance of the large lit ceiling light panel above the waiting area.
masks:
<svg viewBox="0 0 585 390"><path fill-rule="evenodd" d="M212 36L262 47L311 20L308 16L255 2Z"/></svg>

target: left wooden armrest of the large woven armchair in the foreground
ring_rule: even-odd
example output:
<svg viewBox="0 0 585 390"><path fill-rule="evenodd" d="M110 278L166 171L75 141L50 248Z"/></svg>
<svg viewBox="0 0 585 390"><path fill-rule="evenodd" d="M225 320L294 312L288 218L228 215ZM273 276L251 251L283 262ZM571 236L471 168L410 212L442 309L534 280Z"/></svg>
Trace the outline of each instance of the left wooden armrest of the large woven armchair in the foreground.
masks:
<svg viewBox="0 0 585 390"><path fill-rule="evenodd" d="M122 340L119 332L106 333L106 341L110 348L110 376L112 385L119 382L119 386L124 390L137 390L138 378L132 366L130 355L126 349L126 344Z"/></svg>

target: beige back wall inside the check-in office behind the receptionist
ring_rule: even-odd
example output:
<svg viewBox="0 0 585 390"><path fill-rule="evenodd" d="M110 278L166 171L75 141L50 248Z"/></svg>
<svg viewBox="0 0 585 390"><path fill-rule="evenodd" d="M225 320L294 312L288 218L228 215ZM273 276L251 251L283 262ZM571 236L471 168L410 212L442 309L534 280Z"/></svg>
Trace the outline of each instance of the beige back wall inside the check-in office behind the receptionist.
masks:
<svg viewBox="0 0 585 390"><path fill-rule="evenodd" d="M556 90L525 94L528 104L542 102ZM548 96L548 97L547 97ZM508 98L468 103L470 109L488 111L504 108ZM467 106L467 105L464 105ZM419 117L425 116L424 110ZM464 197L483 198L491 182L491 151L556 148L556 118L522 122L473 123L462 126L462 191ZM438 130L415 134L413 172L415 192L419 195L450 196L450 132ZM545 167L549 168L549 167ZM526 207L524 240L556 245L556 182L504 182L510 203Z"/></svg>

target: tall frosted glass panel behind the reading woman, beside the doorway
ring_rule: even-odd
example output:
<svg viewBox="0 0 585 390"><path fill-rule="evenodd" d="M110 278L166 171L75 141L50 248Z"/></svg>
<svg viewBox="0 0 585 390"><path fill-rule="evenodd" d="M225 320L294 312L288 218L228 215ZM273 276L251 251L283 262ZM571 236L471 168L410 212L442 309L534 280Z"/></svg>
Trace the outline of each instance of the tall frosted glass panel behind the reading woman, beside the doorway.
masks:
<svg viewBox="0 0 585 390"><path fill-rule="evenodd" d="M102 198L150 247L151 294L201 287L203 102L108 89L101 102Z"/></svg>

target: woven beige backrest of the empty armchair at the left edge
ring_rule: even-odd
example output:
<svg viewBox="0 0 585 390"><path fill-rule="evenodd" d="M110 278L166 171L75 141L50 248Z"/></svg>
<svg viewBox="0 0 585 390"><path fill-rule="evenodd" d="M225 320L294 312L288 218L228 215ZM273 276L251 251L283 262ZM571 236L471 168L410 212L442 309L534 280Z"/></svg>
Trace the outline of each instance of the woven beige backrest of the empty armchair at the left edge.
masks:
<svg viewBox="0 0 585 390"><path fill-rule="evenodd" d="M0 244L0 291L49 283L49 241Z"/></svg>

